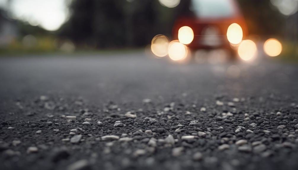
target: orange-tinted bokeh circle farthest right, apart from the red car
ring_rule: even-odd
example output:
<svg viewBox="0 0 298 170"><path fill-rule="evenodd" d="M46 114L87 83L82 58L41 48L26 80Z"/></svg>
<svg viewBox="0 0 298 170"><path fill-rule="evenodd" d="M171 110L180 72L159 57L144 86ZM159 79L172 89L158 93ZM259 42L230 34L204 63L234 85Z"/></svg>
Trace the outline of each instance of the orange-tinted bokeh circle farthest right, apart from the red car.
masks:
<svg viewBox="0 0 298 170"><path fill-rule="evenodd" d="M271 57L278 56L280 55L282 50L283 50L283 46L275 38L270 38L266 40L266 42L264 43L264 51L268 56L271 56Z"/></svg>

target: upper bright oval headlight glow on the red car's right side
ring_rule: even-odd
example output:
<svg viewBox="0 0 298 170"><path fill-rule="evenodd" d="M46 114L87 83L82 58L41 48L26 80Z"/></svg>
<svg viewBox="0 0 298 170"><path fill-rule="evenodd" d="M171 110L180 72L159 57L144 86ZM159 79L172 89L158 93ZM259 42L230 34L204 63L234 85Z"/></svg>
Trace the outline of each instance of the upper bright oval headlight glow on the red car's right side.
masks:
<svg viewBox="0 0 298 170"><path fill-rule="evenodd" d="M239 44L243 38L243 31L239 24L232 23L226 32L226 36L230 43Z"/></svg>

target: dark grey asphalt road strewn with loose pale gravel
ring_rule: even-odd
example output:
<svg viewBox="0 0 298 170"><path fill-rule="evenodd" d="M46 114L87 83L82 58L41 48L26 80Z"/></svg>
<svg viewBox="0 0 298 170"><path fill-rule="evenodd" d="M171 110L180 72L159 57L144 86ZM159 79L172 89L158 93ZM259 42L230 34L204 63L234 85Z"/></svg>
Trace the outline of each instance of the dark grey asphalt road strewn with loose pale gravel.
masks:
<svg viewBox="0 0 298 170"><path fill-rule="evenodd" d="M270 60L2 57L0 169L298 169L297 78Z"/></svg>

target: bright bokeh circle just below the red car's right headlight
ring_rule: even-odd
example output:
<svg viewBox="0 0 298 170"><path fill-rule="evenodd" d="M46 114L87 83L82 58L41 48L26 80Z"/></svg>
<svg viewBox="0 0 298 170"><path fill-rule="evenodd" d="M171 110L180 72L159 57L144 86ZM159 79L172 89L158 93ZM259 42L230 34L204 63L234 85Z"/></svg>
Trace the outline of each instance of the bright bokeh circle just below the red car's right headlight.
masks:
<svg viewBox="0 0 298 170"><path fill-rule="evenodd" d="M243 40L238 47L238 54L245 61L251 60L257 54L257 46L252 40Z"/></svg>

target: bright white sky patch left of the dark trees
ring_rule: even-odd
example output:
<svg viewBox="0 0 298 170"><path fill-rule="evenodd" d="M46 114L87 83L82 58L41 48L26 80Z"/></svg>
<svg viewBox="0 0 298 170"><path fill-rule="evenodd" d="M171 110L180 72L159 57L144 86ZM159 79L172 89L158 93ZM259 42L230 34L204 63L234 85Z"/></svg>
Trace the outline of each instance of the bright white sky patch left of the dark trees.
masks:
<svg viewBox="0 0 298 170"><path fill-rule="evenodd" d="M68 18L66 1L69 0L0 0L0 6L10 11L14 18L55 31Z"/></svg>

